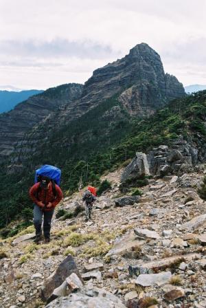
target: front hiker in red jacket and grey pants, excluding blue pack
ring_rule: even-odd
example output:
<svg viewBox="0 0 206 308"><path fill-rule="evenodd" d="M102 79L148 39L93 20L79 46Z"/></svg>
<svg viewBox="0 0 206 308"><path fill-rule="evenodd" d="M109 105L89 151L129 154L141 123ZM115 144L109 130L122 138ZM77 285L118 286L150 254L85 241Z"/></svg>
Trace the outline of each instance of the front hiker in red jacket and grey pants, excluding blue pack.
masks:
<svg viewBox="0 0 206 308"><path fill-rule="evenodd" d="M36 239L34 241L38 243L41 240L41 225L44 216L43 234L45 242L48 243L50 241L54 208L63 197L62 190L48 177L42 177L40 182L30 188L30 197L34 201L34 227L36 229Z"/></svg>

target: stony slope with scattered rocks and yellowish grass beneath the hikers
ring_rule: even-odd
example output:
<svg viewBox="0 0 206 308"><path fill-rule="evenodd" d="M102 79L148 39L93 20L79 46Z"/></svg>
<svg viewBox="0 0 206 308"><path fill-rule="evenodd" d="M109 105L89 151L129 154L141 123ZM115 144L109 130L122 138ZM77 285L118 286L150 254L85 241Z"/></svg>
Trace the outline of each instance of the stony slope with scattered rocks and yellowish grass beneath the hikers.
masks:
<svg viewBox="0 0 206 308"><path fill-rule="evenodd" d="M46 307L206 307L206 203L196 192L203 171L149 179L141 197L119 191L121 174L104 176L112 188L91 221L81 213L54 219L47 244L32 242L31 227L27 240L1 241L0 307L45 307L41 289L58 296ZM60 208L75 210L81 194ZM67 281L65 259L73 266ZM66 283L54 290L51 274Z"/></svg>

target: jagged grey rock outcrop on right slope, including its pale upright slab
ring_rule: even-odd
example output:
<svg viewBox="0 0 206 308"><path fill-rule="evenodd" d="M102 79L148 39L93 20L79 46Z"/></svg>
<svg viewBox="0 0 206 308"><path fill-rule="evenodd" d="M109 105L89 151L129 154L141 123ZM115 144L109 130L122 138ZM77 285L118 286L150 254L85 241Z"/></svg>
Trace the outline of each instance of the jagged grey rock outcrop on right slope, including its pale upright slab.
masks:
<svg viewBox="0 0 206 308"><path fill-rule="evenodd" d="M122 173L122 183L144 177L146 175L156 175L164 177L165 175L182 175L187 171L192 171L198 162L203 162L206 152L205 145L199 148L194 143L187 142L183 138L174 141L170 147L161 145L153 148L149 153L136 153L133 159ZM176 177L172 181L176 181ZM166 196L165 196L166 197ZM169 197L169 196L168 196Z"/></svg>

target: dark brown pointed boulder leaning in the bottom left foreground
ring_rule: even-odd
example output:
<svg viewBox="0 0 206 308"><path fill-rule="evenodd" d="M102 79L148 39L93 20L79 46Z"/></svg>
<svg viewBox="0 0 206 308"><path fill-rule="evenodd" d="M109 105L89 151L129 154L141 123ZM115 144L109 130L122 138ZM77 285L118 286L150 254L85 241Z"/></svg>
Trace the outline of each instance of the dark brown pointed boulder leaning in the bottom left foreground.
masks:
<svg viewBox="0 0 206 308"><path fill-rule="evenodd" d="M45 301L49 300L54 292L54 289L60 287L60 285L62 285L66 278L72 273L75 273L80 280L82 280L73 257L69 255L64 261L62 261L62 263L60 263L56 272L49 276L49 278L45 281L41 290L41 298Z"/></svg>

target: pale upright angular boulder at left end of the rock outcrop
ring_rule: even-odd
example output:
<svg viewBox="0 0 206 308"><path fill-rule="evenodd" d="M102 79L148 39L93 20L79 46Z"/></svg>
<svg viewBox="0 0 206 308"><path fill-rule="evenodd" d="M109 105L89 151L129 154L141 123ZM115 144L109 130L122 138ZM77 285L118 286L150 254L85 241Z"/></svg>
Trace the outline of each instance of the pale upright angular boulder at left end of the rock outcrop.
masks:
<svg viewBox="0 0 206 308"><path fill-rule="evenodd" d="M135 159L124 169L121 181L125 182L128 179L136 179L145 175L150 175L148 159L145 153L137 152Z"/></svg>

